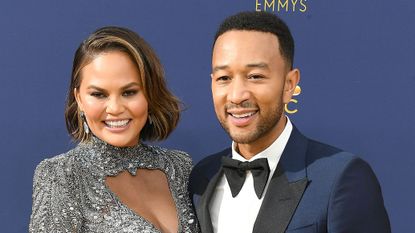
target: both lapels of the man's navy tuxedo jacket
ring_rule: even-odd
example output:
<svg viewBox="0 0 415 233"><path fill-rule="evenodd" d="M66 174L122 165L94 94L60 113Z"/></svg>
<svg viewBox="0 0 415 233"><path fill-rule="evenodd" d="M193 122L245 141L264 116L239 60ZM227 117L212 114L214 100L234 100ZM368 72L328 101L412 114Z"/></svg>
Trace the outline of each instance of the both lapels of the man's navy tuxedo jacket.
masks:
<svg viewBox="0 0 415 233"><path fill-rule="evenodd" d="M283 233L287 229L308 184L305 165L307 142L308 139L293 125L290 139L265 193L255 221L254 233ZM228 149L215 156L206 170L205 178L210 181L196 207L202 233L213 232L209 203L223 175L220 158L230 156L230 151Z"/></svg>

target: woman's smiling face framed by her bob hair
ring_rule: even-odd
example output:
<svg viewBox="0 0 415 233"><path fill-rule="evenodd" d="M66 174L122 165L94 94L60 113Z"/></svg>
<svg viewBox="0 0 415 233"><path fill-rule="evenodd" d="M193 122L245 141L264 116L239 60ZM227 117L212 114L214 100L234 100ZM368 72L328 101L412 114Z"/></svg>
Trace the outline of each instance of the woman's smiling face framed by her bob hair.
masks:
<svg viewBox="0 0 415 233"><path fill-rule="evenodd" d="M148 102L139 71L127 54L110 51L97 55L81 70L81 84L74 92L95 136L118 147L138 143Z"/></svg>

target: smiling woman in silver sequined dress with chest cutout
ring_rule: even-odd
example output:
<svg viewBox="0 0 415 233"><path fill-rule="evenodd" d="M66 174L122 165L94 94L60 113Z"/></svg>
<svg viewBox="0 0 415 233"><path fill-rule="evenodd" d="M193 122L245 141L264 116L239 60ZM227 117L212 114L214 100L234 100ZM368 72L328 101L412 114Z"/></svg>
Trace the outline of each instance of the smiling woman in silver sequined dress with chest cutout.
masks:
<svg viewBox="0 0 415 233"><path fill-rule="evenodd" d="M180 115L162 66L136 33L104 27L77 49L66 103L73 150L36 168L30 232L197 232L190 157L143 144Z"/></svg>

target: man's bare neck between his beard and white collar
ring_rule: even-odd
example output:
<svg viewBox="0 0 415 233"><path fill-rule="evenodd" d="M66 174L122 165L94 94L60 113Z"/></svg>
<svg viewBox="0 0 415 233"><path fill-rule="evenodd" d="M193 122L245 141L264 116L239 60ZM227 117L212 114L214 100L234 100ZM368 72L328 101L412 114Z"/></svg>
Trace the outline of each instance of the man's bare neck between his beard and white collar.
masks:
<svg viewBox="0 0 415 233"><path fill-rule="evenodd" d="M270 130L267 134L258 138L257 140L241 144L236 143L235 150L245 159L249 160L254 157L259 152L268 148L284 131L285 125L287 124L287 118L285 115L282 115L278 123Z"/></svg>

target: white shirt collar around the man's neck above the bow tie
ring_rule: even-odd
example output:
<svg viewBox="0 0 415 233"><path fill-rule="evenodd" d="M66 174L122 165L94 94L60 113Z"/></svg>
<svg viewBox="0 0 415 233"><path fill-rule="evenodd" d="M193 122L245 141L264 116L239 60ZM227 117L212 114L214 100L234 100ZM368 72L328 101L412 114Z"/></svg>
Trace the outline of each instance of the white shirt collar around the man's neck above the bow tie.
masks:
<svg viewBox="0 0 415 233"><path fill-rule="evenodd" d="M284 130L280 136L278 136L278 138L265 150L247 160L235 150L236 143L232 142L232 158L240 161L253 161L259 158L266 158L268 159L270 169L275 170L293 129L290 118L288 118L288 116L286 116L286 118L287 123L285 124Z"/></svg>

